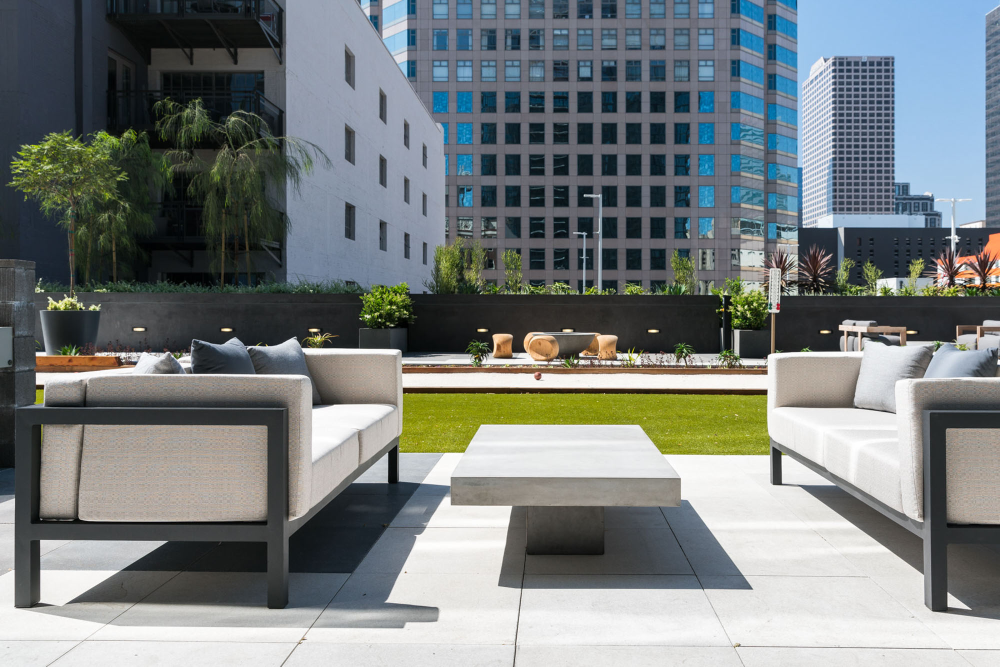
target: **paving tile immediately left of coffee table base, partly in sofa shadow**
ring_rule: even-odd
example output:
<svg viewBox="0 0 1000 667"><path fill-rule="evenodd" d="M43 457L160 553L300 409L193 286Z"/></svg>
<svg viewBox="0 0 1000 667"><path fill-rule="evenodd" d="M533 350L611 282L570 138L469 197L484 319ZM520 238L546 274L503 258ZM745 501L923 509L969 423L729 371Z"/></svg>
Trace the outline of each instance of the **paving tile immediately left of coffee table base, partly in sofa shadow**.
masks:
<svg viewBox="0 0 1000 667"><path fill-rule="evenodd" d="M524 572L523 528L387 528L356 574Z"/></svg>

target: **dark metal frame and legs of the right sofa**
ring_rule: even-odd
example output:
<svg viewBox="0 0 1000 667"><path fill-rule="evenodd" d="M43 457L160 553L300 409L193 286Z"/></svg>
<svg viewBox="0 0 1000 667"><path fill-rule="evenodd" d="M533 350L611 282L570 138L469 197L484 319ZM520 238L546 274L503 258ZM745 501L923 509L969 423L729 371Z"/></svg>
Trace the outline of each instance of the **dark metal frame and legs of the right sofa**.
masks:
<svg viewBox="0 0 1000 667"><path fill-rule="evenodd" d="M830 480L924 541L924 604L931 611L948 609L948 545L1000 544L998 524L948 523L947 451L948 429L1000 429L998 410L924 411L924 520L917 521L867 493L798 452L771 440L771 484L781 484L781 454L787 454L816 474Z"/></svg>

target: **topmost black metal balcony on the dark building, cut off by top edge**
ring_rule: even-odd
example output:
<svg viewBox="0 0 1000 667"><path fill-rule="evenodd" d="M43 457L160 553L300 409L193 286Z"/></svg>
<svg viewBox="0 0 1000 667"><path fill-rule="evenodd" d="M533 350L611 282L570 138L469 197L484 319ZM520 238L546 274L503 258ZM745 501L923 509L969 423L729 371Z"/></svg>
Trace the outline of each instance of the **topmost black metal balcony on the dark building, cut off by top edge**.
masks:
<svg viewBox="0 0 1000 667"><path fill-rule="evenodd" d="M194 49L270 48L284 59L285 10L275 0L107 0L115 23L150 61L152 49L181 49L194 65Z"/></svg>

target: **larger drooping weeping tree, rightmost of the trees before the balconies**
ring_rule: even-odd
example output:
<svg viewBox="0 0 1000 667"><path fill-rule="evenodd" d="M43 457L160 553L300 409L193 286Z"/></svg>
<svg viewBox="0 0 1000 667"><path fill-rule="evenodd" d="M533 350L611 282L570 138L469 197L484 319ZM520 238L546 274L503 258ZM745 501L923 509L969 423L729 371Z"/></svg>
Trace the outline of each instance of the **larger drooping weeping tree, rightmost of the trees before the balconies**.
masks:
<svg viewBox="0 0 1000 667"><path fill-rule="evenodd" d="M282 241L288 234L289 221L278 200L283 186L298 195L316 162L326 169L333 163L316 144L275 136L263 118L249 111L214 120L200 99L180 104L169 98L157 102L154 110L157 132L174 147L167 158L177 173L188 177L186 194L202 202L205 244L218 258L219 284L226 280L230 242L234 278L239 271L241 238L251 284L250 248Z"/></svg>

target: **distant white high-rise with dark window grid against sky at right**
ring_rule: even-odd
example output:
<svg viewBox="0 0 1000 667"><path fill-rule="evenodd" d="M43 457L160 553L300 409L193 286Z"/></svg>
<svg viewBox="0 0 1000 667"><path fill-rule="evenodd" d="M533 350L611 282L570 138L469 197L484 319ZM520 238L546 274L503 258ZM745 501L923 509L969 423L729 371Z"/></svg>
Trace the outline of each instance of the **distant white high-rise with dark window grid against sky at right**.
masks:
<svg viewBox="0 0 1000 667"><path fill-rule="evenodd" d="M895 59L820 58L802 85L802 224L894 212Z"/></svg>

